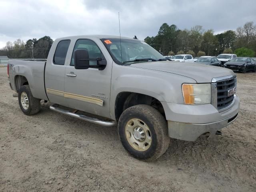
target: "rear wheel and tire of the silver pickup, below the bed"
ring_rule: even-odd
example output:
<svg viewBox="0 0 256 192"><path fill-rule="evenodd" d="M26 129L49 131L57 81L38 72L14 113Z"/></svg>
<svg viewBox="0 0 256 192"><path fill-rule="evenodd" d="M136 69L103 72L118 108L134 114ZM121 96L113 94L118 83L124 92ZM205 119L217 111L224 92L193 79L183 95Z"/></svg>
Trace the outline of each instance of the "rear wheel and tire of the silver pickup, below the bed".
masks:
<svg viewBox="0 0 256 192"><path fill-rule="evenodd" d="M20 87L18 100L20 109L25 115L33 115L39 112L40 99L33 97L29 85L23 85Z"/></svg>

